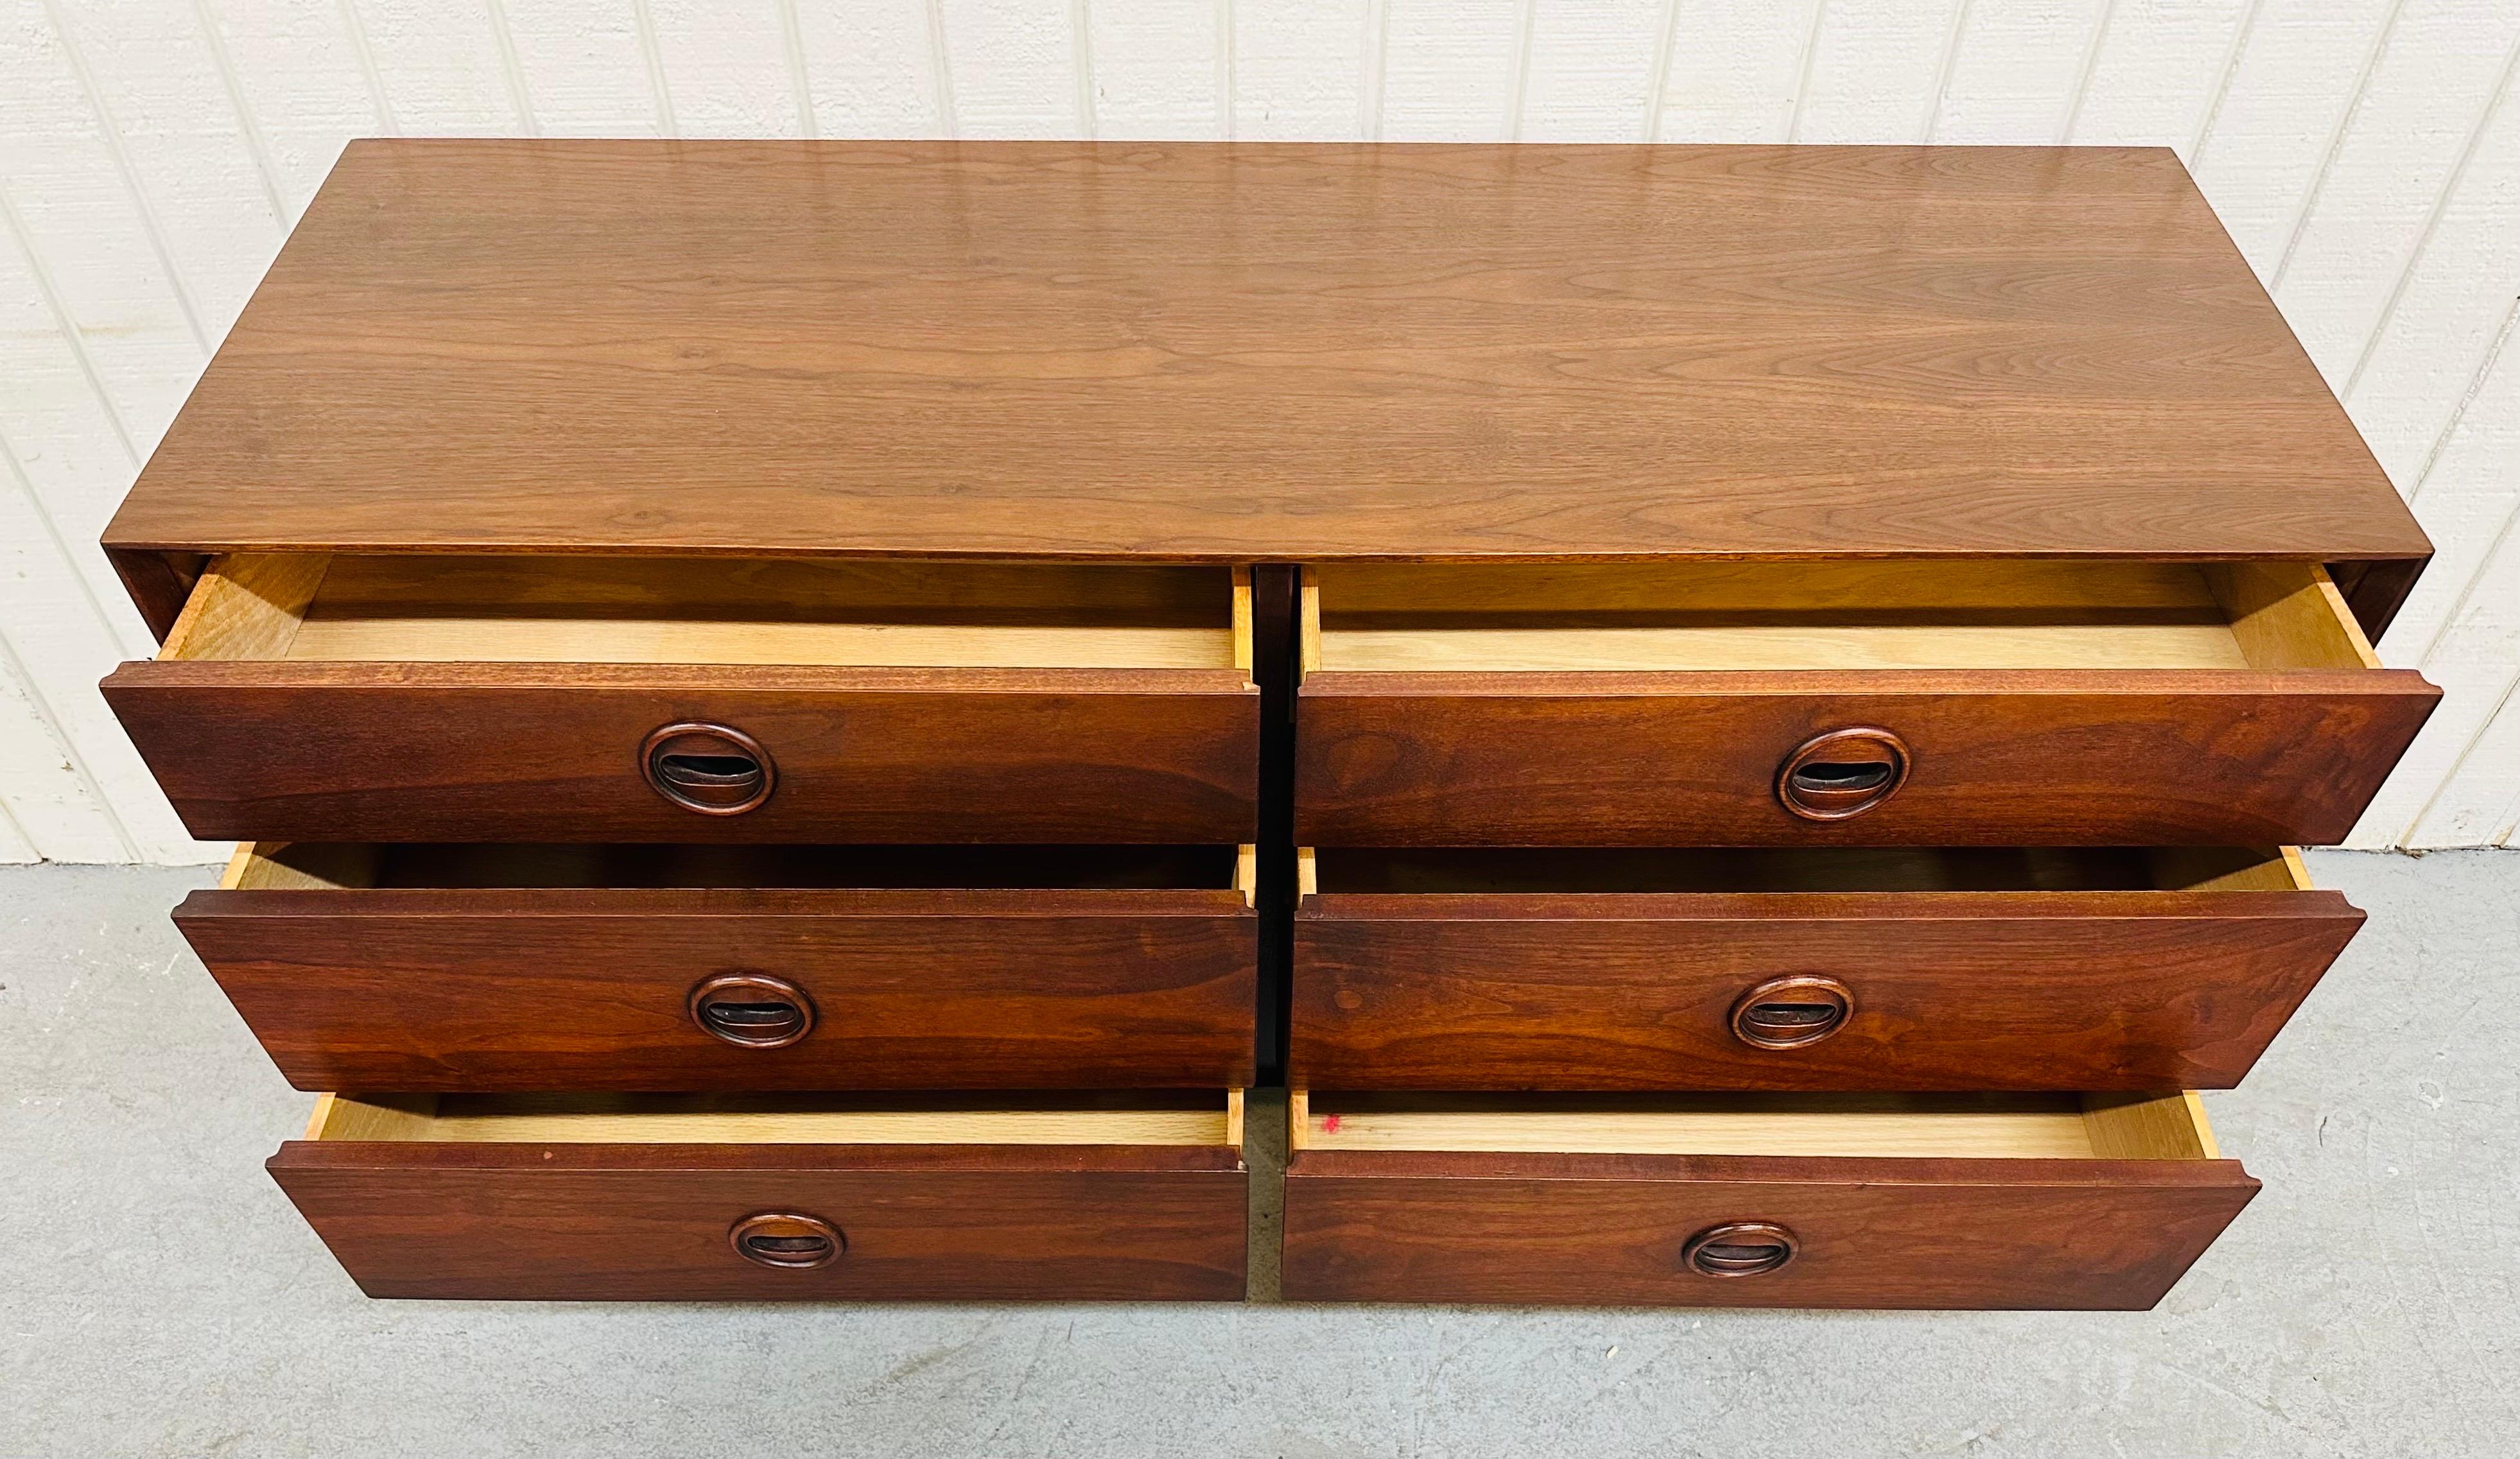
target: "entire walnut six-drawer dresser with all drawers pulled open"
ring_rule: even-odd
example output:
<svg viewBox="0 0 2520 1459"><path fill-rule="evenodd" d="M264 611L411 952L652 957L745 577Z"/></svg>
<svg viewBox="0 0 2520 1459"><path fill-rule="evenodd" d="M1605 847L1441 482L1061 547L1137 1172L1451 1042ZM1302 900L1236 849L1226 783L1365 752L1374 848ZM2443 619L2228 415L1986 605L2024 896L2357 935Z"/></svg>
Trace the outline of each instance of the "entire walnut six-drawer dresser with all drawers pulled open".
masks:
<svg viewBox="0 0 2520 1459"><path fill-rule="evenodd" d="M106 547L375 1295L2142 1308L2434 701L2147 149L363 141Z"/></svg>

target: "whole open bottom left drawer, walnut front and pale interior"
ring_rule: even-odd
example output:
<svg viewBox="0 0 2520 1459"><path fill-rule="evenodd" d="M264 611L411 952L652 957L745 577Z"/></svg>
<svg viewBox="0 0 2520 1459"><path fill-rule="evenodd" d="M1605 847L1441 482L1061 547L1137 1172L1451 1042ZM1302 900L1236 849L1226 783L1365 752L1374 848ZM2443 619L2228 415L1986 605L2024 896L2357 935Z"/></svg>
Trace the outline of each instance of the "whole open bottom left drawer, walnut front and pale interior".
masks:
<svg viewBox="0 0 2520 1459"><path fill-rule="evenodd" d="M325 1094L270 1172L370 1298L1242 1298L1240 1091Z"/></svg>

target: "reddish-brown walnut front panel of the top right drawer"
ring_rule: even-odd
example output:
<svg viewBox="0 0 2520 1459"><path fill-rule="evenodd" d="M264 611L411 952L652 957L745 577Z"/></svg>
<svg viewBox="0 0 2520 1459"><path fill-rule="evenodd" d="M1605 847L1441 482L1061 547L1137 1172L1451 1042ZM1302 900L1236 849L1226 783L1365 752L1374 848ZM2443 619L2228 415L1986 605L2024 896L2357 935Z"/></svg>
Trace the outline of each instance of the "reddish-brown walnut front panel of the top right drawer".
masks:
<svg viewBox="0 0 2520 1459"><path fill-rule="evenodd" d="M1320 847L2341 842L2439 690L2303 673L1310 673L1295 837ZM1807 819L1819 736L1880 728L1905 781Z"/></svg>

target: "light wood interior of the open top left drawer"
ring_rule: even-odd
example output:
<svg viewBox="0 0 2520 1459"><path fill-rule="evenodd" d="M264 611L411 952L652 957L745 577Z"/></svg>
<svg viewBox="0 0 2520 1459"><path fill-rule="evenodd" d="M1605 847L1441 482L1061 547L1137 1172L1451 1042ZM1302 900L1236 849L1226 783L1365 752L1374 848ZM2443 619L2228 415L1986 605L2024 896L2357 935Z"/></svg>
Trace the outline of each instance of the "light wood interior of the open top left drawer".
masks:
<svg viewBox="0 0 2520 1459"><path fill-rule="evenodd" d="M161 660L1242 668L1240 567L229 554Z"/></svg>

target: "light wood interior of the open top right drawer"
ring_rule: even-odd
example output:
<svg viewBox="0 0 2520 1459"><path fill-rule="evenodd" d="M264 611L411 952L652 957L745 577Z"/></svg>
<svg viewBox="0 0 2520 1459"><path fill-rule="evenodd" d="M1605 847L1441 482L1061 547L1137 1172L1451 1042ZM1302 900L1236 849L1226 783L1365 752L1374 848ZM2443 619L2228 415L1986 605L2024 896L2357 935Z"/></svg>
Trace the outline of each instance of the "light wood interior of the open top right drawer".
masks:
<svg viewBox="0 0 2520 1459"><path fill-rule="evenodd" d="M1305 569L1303 668L2379 668L2313 562L1613 562Z"/></svg>

